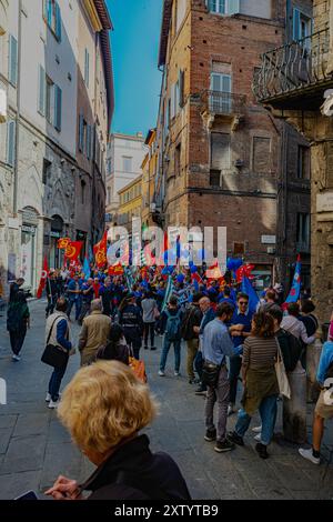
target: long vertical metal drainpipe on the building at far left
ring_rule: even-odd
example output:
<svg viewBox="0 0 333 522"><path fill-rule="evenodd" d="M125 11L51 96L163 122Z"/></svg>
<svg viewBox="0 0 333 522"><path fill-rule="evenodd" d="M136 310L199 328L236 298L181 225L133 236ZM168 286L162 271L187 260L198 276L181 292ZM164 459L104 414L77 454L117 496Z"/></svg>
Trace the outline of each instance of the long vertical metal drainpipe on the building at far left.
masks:
<svg viewBox="0 0 333 522"><path fill-rule="evenodd" d="M13 215L18 213L18 184L19 184L19 144L20 144L20 114L21 114L21 57L22 57L22 0L19 0L19 29L18 29L18 84L17 84L17 117L16 117L16 159L13 169Z"/></svg>

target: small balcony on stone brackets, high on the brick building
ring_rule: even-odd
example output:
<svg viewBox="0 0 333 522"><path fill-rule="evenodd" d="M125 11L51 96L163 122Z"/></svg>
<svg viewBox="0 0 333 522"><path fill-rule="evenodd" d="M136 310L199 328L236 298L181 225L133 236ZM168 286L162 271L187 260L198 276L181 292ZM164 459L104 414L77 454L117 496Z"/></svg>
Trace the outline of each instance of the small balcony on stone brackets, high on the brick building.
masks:
<svg viewBox="0 0 333 522"><path fill-rule="evenodd" d="M201 116L208 127L212 127L215 120L230 120L233 130L244 119L246 97L221 91L203 91L201 94Z"/></svg>

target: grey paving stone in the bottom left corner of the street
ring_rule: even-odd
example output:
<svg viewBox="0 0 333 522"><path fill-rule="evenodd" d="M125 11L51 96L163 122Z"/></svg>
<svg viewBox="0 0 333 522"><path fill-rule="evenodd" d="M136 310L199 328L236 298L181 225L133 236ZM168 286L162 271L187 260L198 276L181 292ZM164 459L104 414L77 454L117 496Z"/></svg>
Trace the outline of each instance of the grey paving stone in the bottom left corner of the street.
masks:
<svg viewBox="0 0 333 522"><path fill-rule="evenodd" d="M14 499L30 490L38 494L40 491L39 482L40 471L26 471L0 475L0 500Z"/></svg>

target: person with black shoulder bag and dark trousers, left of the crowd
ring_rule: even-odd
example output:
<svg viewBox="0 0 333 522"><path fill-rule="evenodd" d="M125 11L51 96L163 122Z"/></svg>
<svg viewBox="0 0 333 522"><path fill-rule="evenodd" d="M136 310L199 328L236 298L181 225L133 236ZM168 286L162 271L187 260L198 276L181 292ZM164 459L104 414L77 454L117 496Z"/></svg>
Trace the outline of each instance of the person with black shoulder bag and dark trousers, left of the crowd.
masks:
<svg viewBox="0 0 333 522"><path fill-rule="evenodd" d="M68 353L68 358L63 367L54 368L49 381L49 391L47 393L46 402L49 403L48 408L50 409L58 408L61 381L67 370L70 351L73 348L70 339L69 319L67 315L68 305L69 303L65 298L58 299L56 312L47 320L46 342L53 347L60 347Z"/></svg>

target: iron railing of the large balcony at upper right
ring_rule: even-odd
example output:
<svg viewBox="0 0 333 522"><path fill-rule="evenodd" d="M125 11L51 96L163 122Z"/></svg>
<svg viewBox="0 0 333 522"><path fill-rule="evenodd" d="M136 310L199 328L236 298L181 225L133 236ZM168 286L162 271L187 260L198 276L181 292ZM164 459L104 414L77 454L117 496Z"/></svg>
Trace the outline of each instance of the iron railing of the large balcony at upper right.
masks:
<svg viewBox="0 0 333 522"><path fill-rule="evenodd" d="M269 101L332 78L329 72L330 30L273 49L262 56L254 74L253 92Z"/></svg>

